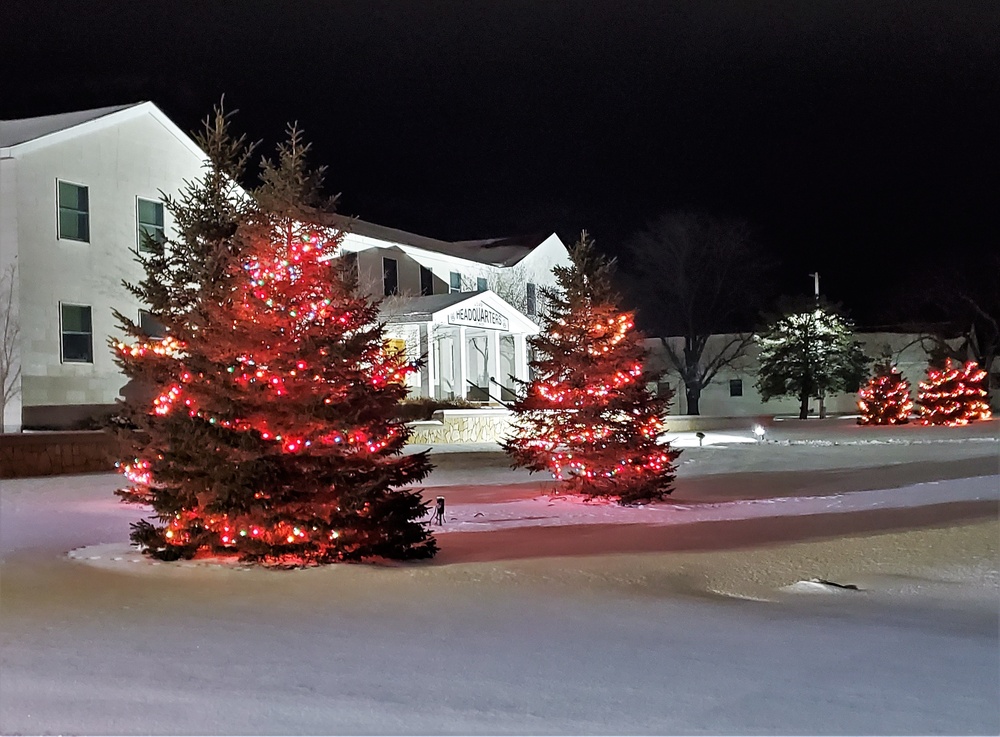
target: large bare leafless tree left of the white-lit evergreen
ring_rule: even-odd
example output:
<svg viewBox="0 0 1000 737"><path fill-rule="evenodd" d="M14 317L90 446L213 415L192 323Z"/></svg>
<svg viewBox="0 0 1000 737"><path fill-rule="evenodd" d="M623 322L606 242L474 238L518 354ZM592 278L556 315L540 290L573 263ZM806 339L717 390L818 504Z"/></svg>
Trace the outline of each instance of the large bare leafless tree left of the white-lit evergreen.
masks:
<svg viewBox="0 0 1000 737"><path fill-rule="evenodd" d="M662 216L627 250L639 322L660 336L667 363L684 382L687 413L700 414L702 390L753 345L748 328L767 265L744 223L691 212ZM720 333L729 337L709 340ZM673 336L683 338L682 349L667 340Z"/></svg>

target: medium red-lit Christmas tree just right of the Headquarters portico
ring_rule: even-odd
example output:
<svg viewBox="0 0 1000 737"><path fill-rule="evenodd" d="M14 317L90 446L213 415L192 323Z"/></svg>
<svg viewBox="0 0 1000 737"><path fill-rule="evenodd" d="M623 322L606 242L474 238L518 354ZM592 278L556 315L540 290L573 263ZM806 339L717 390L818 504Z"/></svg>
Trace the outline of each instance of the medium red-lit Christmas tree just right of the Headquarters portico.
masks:
<svg viewBox="0 0 1000 737"><path fill-rule="evenodd" d="M515 466L549 471L571 493L622 504L662 499L673 488L680 455L659 444L669 396L647 388L642 335L618 307L612 265L587 233L554 269L541 332L530 338L534 380L512 409L504 443Z"/></svg>

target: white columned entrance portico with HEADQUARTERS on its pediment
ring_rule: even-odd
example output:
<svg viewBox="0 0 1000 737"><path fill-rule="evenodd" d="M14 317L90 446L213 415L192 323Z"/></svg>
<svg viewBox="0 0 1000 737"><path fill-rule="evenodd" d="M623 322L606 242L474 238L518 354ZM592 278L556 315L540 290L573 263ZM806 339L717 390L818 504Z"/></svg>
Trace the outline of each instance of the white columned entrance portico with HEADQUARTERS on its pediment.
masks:
<svg viewBox="0 0 1000 737"><path fill-rule="evenodd" d="M499 403L514 398L515 379L528 378L528 317L491 291L391 300L386 337L411 360L410 396Z"/></svg>

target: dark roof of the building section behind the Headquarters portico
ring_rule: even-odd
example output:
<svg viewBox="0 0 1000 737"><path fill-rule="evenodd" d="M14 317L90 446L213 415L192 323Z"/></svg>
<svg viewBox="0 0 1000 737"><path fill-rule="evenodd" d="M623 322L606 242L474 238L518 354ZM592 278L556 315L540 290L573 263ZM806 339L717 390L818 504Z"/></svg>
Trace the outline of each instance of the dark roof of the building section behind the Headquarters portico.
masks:
<svg viewBox="0 0 1000 737"><path fill-rule="evenodd" d="M442 241L344 215L330 215L328 224L348 233L367 238L401 246L413 246L425 251L493 266L513 266L548 237L531 235L518 238L486 238L474 241Z"/></svg>

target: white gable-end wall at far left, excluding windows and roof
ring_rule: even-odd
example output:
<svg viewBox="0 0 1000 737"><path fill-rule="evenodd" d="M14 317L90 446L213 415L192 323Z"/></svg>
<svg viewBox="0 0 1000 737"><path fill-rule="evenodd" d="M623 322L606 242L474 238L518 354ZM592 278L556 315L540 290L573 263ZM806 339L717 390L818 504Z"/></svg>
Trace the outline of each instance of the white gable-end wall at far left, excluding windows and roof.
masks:
<svg viewBox="0 0 1000 737"><path fill-rule="evenodd" d="M202 171L203 157L190 141L155 114L109 117L113 125L80 126L54 142L13 149L15 206L13 213L5 207L0 227L5 251L7 230L16 231L25 407L114 402L124 377L107 346L109 336L119 334L111 310L137 315L139 304L121 282L143 276L130 252L138 244L136 198L176 194L183 180ZM59 180L88 189L89 243L59 238ZM166 220L169 228L169 213ZM61 360L61 303L91 307L92 363Z"/></svg>

